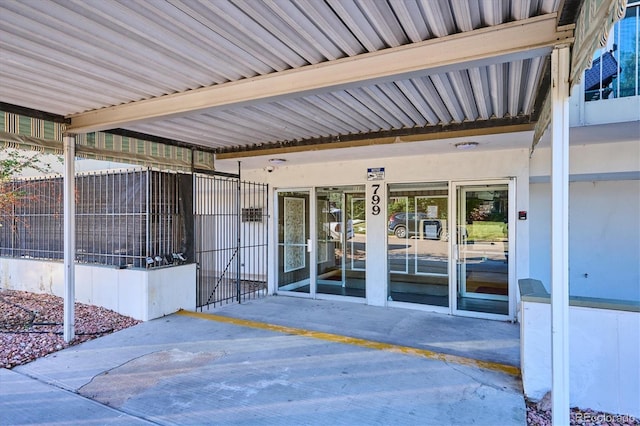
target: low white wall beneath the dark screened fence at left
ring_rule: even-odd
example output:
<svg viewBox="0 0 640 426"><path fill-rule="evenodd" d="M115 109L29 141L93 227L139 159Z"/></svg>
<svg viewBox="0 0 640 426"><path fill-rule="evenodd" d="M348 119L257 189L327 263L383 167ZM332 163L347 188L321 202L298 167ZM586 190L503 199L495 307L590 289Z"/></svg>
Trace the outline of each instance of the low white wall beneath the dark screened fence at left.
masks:
<svg viewBox="0 0 640 426"><path fill-rule="evenodd" d="M63 264L30 259L0 259L0 287L64 294ZM76 265L76 301L102 306L142 321L180 309L195 310L196 265L154 269L117 269Z"/></svg>

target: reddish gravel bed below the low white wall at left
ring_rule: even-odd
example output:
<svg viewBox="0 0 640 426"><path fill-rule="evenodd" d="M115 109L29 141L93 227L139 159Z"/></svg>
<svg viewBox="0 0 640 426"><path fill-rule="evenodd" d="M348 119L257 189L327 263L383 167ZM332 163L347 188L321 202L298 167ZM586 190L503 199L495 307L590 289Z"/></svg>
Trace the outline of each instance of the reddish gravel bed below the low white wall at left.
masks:
<svg viewBox="0 0 640 426"><path fill-rule="evenodd" d="M0 367L26 364L140 322L99 306L76 303L76 338L68 344L62 337L63 307L62 298L50 294L0 290Z"/></svg>

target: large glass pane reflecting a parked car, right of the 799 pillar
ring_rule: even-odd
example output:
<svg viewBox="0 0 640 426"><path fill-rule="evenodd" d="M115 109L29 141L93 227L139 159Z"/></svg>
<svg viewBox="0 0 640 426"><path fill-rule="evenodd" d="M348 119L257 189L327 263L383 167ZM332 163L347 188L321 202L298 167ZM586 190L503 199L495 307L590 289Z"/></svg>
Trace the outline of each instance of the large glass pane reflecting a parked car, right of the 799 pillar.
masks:
<svg viewBox="0 0 640 426"><path fill-rule="evenodd" d="M448 184L394 184L388 193L388 299L448 307Z"/></svg>

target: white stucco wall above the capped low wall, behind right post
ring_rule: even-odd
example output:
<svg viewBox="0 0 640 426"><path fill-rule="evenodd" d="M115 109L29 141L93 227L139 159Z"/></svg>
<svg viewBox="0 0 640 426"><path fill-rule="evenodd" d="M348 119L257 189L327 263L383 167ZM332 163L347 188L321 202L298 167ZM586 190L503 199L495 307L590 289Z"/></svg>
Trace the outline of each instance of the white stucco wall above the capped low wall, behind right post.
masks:
<svg viewBox="0 0 640 426"><path fill-rule="evenodd" d="M551 279L548 150L532 159L531 277ZM569 282L572 296L640 301L640 143L572 147ZM622 180L620 180L622 179Z"/></svg>

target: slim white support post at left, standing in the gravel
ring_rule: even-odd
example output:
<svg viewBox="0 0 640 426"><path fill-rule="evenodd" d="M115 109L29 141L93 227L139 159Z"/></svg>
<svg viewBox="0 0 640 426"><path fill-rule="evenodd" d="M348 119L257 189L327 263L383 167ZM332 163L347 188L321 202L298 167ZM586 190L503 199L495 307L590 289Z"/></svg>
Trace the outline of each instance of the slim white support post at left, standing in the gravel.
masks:
<svg viewBox="0 0 640 426"><path fill-rule="evenodd" d="M76 253L76 200L75 200L75 145L74 135L65 135L64 146L64 341L75 338L75 253Z"/></svg>

